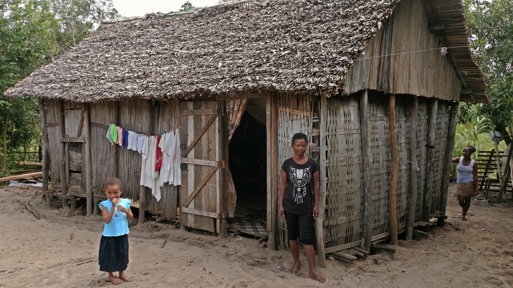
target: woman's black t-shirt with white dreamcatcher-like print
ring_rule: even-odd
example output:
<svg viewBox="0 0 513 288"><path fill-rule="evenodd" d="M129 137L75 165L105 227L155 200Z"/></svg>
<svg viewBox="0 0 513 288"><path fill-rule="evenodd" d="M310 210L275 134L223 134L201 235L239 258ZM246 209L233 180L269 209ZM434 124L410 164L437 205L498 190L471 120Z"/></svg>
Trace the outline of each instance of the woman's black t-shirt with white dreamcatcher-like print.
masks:
<svg viewBox="0 0 513 288"><path fill-rule="evenodd" d="M287 173L283 209L292 214L311 214L312 175L319 171L317 162L308 158L304 164L298 164L289 158L283 162L282 170Z"/></svg>

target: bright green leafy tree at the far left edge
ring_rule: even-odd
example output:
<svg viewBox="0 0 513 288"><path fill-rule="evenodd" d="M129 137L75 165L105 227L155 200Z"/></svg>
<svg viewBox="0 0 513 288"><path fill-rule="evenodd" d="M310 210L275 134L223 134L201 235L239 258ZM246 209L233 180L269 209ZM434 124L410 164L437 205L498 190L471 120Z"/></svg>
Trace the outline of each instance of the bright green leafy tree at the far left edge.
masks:
<svg viewBox="0 0 513 288"><path fill-rule="evenodd" d="M3 92L58 54L52 31L59 25L46 1L7 0L0 5L0 131L5 171L9 151L34 145L38 112L35 99L11 99Z"/></svg>

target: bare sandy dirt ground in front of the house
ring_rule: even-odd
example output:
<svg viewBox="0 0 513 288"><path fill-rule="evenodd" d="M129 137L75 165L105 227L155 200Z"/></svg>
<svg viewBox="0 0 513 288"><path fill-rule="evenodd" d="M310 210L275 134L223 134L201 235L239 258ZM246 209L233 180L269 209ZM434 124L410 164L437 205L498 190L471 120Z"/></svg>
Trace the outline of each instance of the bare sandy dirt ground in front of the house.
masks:
<svg viewBox="0 0 513 288"><path fill-rule="evenodd" d="M99 287L103 231L100 216L63 217L34 191L0 189L0 287ZM121 287L511 287L513 286L513 208L511 203L473 200L468 221L454 187L449 191L447 225L428 239L400 240L396 254L371 255L353 264L327 260L319 269L326 283L307 276L307 263L295 276L286 272L286 250L261 248L256 240L220 239L150 222L132 225L130 263L133 282ZM40 214L25 208L27 199ZM67 216L67 215L65 215ZM71 235L73 235L71 237ZM161 248L164 239L168 239ZM110 283L108 283L110 284Z"/></svg>

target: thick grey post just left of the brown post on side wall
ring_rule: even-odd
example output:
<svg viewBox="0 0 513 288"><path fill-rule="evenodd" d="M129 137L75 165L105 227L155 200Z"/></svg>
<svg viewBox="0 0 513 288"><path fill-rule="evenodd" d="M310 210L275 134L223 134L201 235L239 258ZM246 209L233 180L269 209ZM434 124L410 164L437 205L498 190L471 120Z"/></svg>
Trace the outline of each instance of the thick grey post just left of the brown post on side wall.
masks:
<svg viewBox="0 0 513 288"><path fill-rule="evenodd" d="M370 250L372 237L372 153L370 151L370 127L369 127L369 97L364 90L358 102L360 114L360 132L362 133L362 158L363 158L363 233L362 248ZM322 130L321 130L322 131Z"/></svg>

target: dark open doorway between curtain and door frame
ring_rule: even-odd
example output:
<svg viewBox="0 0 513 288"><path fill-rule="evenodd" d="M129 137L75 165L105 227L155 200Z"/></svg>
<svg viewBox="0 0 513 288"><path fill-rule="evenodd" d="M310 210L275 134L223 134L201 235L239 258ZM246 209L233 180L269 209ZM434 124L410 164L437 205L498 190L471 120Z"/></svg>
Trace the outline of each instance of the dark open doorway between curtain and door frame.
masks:
<svg viewBox="0 0 513 288"><path fill-rule="evenodd" d="M235 217L228 219L229 230L240 230L257 237L267 236L265 115L265 99L250 99L240 125L230 140L228 151L230 172L237 194Z"/></svg>

